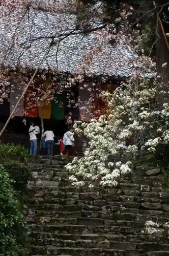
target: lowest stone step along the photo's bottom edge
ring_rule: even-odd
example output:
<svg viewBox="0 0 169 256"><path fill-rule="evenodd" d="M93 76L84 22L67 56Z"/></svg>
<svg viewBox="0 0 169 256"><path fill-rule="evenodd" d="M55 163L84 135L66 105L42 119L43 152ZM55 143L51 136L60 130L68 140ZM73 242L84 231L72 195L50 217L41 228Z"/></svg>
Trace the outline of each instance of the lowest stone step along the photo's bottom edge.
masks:
<svg viewBox="0 0 169 256"><path fill-rule="evenodd" d="M35 247L32 253L42 255L58 255L58 256L125 256L122 250L98 249L98 248L69 248L69 247ZM134 254L133 254L134 256Z"/></svg>

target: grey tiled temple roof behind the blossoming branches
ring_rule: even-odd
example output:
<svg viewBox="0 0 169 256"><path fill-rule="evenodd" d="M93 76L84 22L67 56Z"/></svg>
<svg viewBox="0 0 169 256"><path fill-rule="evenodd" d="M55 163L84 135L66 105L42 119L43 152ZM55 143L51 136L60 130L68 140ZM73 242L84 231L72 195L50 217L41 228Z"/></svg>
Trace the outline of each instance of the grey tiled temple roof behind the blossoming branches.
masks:
<svg viewBox="0 0 169 256"><path fill-rule="evenodd" d="M16 20L18 20L19 25L17 25ZM73 15L49 14L42 11L29 15L26 13L24 17L17 14L15 20L10 19L6 26L0 20L0 48L2 49L0 62L13 68L17 66L19 61L22 68L37 68L51 39L32 39L69 33L75 29L75 24L76 17ZM14 34L15 42L11 40ZM24 42L26 43L23 44ZM13 43L20 45L20 47L11 48ZM74 73L81 67L81 62L86 55L89 54L90 56L91 47L95 46L94 33L70 35L60 42L59 48L58 45L52 46L40 68ZM103 43L102 51L94 56L86 73L128 77L135 72L132 66L133 58L132 51L125 47L112 47L107 44L104 46ZM126 66L126 61L130 61L130 65Z"/></svg>

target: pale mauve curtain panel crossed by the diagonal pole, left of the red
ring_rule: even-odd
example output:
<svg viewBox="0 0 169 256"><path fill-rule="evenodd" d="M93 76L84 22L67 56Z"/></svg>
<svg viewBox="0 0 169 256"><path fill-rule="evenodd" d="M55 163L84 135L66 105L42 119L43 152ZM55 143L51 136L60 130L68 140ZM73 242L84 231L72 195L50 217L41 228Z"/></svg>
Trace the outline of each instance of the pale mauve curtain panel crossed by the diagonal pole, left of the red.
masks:
<svg viewBox="0 0 169 256"><path fill-rule="evenodd" d="M17 86L16 86L16 83L14 82L14 80L11 80L11 91L10 91L10 114L12 113L15 105L17 104L23 90L22 89L19 89ZM23 116L24 114L24 106L23 106L23 102L24 102L24 99L22 98L22 100L20 101L16 111L15 111L15 114L14 116Z"/></svg>

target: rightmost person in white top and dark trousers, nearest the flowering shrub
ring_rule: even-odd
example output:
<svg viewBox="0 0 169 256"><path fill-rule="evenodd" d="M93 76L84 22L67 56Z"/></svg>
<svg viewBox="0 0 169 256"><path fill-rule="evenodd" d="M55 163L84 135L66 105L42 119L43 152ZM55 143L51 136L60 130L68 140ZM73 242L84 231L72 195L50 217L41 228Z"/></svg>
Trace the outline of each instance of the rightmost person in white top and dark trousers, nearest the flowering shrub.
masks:
<svg viewBox="0 0 169 256"><path fill-rule="evenodd" d="M61 153L61 155L65 155L67 152L69 152L69 156L72 156L72 149L74 146L74 133L71 131L67 131L64 134L63 143L65 148L63 154Z"/></svg>

